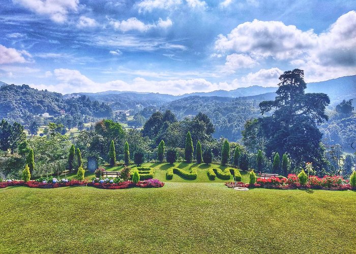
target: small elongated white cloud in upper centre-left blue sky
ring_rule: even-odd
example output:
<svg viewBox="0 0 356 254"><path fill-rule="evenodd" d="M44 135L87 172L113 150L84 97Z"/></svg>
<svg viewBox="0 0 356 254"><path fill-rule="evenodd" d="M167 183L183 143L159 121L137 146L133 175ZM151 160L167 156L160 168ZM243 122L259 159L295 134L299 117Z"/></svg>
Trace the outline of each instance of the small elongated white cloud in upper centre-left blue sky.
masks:
<svg viewBox="0 0 356 254"><path fill-rule="evenodd" d="M170 18L167 18L166 20L159 18L158 22L156 23L145 24L137 18L133 17L123 21L110 19L109 24L112 25L115 30L121 30L123 32L130 30L138 30L140 32L144 32L153 28L166 29L172 26L173 22L170 20Z"/></svg>

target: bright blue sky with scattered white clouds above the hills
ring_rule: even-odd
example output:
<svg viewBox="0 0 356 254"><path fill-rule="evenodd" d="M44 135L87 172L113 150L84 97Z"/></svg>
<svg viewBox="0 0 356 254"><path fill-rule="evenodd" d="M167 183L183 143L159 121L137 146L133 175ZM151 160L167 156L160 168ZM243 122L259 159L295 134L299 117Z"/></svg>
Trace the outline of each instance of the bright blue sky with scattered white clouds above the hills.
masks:
<svg viewBox="0 0 356 254"><path fill-rule="evenodd" d="M0 0L0 80L183 94L356 74L356 1Z"/></svg>

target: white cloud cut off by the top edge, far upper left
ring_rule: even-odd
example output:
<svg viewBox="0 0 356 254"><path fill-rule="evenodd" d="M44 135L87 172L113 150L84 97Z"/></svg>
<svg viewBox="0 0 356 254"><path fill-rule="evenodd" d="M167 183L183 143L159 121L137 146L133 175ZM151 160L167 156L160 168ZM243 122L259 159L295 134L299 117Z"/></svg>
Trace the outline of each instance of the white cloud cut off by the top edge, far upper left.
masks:
<svg viewBox="0 0 356 254"><path fill-rule="evenodd" d="M57 23L65 22L68 13L76 12L79 4L79 0L13 0L13 2L37 14L49 16Z"/></svg>

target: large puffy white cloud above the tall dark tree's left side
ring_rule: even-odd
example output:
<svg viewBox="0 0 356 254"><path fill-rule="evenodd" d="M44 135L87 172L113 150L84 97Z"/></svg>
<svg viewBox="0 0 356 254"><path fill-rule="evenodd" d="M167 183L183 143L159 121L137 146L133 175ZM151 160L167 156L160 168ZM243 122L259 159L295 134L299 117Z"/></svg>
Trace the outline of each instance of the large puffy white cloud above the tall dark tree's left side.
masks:
<svg viewBox="0 0 356 254"><path fill-rule="evenodd" d="M227 36L219 35L215 42L218 52L242 52L288 59L313 48L317 35L312 30L302 31L280 21L245 22Z"/></svg>

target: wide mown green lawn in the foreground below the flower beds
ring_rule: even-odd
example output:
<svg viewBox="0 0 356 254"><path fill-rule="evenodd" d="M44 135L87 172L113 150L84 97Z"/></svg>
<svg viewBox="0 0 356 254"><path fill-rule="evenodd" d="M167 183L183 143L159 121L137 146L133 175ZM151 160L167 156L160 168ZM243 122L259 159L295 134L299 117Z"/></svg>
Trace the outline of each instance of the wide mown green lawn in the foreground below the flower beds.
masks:
<svg viewBox="0 0 356 254"><path fill-rule="evenodd" d="M0 253L355 252L352 191L166 181L150 189L8 187L0 199Z"/></svg>

